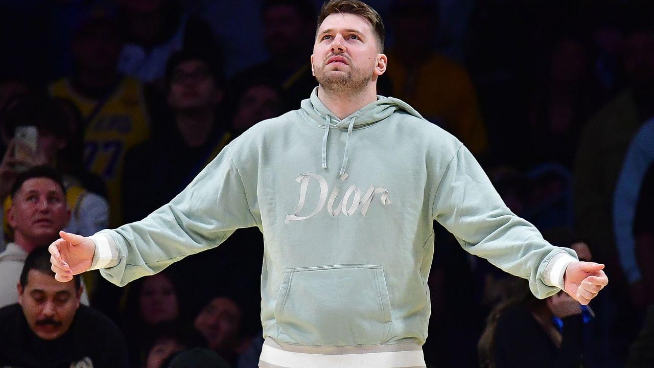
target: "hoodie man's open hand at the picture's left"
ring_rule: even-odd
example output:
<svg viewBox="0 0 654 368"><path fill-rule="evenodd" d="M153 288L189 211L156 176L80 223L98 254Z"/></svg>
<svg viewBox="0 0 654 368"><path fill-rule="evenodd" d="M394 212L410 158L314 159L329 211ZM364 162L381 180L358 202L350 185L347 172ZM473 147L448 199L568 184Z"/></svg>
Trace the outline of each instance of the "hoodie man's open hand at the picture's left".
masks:
<svg viewBox="0 0 654 368"><path fill-rule="evenodd" d="M54 278L60 282L73 280L73 275L81 274L91 268L95 244L93 240L77 234L60 231L61 239L55 240L50 251L50 263L55 273Z"/></svg>

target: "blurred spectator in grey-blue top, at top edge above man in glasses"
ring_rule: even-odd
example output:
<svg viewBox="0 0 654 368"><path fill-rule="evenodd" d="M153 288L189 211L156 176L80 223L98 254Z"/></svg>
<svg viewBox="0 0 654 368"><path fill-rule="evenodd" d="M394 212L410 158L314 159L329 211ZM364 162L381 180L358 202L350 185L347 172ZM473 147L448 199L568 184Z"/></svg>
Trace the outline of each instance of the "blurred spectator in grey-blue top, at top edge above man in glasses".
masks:
<svg viewBox="0 0 654 368"><path fill-rule="evenodd" d="M211 52L220 62L220 48L209 26L184 12L176 0L120 0L120 5L120 29L126 39L118 61L120 73L163 86L167 60L182 48ZM222 73L222 64L211 66Z"/></svg>

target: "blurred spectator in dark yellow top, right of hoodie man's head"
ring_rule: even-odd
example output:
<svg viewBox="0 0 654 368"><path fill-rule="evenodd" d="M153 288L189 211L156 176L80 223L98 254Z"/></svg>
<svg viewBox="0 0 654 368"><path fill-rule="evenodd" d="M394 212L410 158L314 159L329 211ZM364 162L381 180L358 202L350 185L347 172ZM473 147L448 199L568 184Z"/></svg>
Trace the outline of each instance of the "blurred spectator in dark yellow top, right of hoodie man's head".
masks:
<svg viewBox="0 0 654 368"><path fill-rule="evenodd" d="M394 97L441 124L475 155L488 140L477 96L464 67L434 50L438 9L426 0L396 1L391 9L397 43L388 51L387 74Z"/></svg>

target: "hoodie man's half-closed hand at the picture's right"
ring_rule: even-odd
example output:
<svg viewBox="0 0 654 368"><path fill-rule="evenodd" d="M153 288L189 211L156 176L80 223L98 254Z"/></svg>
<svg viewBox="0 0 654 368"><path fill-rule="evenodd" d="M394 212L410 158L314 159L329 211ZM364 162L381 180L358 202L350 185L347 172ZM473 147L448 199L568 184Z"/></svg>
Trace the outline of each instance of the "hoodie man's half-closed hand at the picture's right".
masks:
<svg viewBox="0 0 654 368"><path fill-rule="evenodd" d="M609 283L604 265L594 262L573 262L566 268L563 289L579 303L586 305Z"/></svg>

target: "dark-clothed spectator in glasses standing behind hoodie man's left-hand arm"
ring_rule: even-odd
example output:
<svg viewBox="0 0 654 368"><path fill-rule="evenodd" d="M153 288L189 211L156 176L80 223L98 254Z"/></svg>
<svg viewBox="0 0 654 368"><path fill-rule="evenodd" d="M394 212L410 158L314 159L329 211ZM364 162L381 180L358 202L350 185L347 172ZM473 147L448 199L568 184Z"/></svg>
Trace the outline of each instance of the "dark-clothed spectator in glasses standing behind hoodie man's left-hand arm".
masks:
<svg viewBox="0 0 654 368"><path fill-rule="evenodd" d="M169 202L231 140L220 111L223 85L211 55L173 54L167 66L169 120L130 149L123 179L124 220L137 221ZM156 191L152 190L156 188Z"/></svg>

